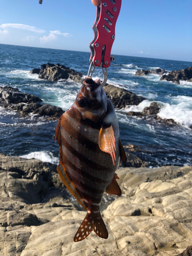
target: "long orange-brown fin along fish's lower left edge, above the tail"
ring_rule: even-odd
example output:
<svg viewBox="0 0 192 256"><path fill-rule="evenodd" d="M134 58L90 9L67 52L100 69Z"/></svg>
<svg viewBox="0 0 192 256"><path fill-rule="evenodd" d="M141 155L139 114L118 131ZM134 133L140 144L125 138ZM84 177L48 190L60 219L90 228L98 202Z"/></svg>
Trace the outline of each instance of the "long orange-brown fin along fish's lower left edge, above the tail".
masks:
<svg viewBox="0 0 192 256"><path fill-rule="evenodd" d="M71 182L67 172L66 168L63 165L63 163L60 163L57 166L57 172L62 180L62 182L65 184L65 186L69 189L71 194L77 199L77 201L80 203L80 205L83 207L84 210L87 210L87 205L84 203L82 198L80 197L79 193L76 191L75 185Z"/></svg>

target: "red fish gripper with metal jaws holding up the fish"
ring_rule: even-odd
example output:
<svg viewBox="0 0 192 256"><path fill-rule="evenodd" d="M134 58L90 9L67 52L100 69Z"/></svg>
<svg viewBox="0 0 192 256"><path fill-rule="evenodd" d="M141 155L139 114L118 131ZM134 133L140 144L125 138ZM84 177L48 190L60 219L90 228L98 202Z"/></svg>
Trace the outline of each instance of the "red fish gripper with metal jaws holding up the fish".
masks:
<svg viewBox="0 0 192 256"><path fill-rule="evenodd" d="M95 67L103 69L104 85L108 78L107 68L114 57L111 49L115 39L115 25L121 8L121 0L101 0L97 6L95 23L93 25L94 38L90 43L90 68L88 76L92 77Z"/></svg>

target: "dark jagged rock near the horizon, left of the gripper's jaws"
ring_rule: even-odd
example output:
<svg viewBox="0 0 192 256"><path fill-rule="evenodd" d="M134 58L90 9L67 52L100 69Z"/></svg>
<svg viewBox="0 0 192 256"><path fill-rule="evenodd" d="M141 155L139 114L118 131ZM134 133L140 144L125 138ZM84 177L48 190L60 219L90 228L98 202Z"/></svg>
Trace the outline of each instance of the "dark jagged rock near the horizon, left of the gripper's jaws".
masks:
<svg viewBox="0 0 192 256"><path fill-rule="evenodd" d="M82 82L82 76L84 74L76 72L64 65L57 63L56 65L52 63L47 63L41 65L41 70L39 72L40 79L47 79L51 81L57 81L59 79L72 79L76 82Z"/></svg>

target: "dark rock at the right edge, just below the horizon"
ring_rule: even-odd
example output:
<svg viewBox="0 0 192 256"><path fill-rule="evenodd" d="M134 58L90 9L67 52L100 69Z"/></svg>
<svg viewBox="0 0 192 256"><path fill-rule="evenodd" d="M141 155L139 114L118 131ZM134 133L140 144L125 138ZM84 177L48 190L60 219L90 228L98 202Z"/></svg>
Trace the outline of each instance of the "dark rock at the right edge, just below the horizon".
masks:
<svg viewBox="0 0 192 256"><path fill-rule="evenodd" d="M192 82L192 67L169 72L168 75L163 75L161 80L172 81L177 84L180 84L180 80Z"/></svg>

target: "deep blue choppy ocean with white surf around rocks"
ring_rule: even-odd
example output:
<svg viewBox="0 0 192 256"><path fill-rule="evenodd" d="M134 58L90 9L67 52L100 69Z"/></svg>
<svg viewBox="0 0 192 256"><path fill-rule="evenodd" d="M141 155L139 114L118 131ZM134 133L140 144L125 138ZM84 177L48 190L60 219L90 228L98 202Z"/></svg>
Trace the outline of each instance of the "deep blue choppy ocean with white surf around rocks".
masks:
<svg viewBox="0 0 192 256"><path fill-rule="evenodd" d="M112 52L113 54L113 52ZM38 96L44 103L70 108L81 84L72 80L48 81L30 74L44 63L60 63L87 75L88 52L11 46L0 44L0 86L11 86ZM139 105L116 110L120 138L123 145L134 144L134 154L147 162L148 167L163 165L192 165L192 82L175 84L161 81L160 76L135 76L137 70L180 70L192 62L114 55L108 69L108 83L146 98ZM96 68L93 79L102 79L102 69ZM142 111L152 101L161 104L159 116L173 118L178 125L166 126L141 118L125 115L129 111ZM54 142L57 121L19 114L0 106L0 152L10 156L36 158L58 163L59 148Z"/></svg>

